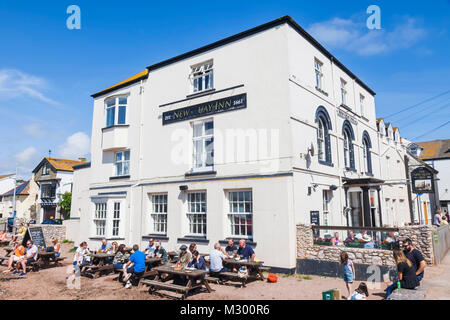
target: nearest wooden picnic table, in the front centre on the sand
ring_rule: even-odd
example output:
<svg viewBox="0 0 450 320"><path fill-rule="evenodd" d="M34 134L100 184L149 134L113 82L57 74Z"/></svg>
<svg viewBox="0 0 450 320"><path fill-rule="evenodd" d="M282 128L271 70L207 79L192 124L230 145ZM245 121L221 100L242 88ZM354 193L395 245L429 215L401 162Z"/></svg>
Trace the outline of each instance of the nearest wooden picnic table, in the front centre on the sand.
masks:
<svg viewBox="0 0 450 320"><path fill-rule="evenodd" d="M150 286L150 293L152 293L156 289L173 290L176 292L181 292L181 299L184 300L184 298L190 291L197 288L205 287L209 293L214 291L205 279L205 276L208 273L205 270L175 270L174 266L170 265L155 267L153 268L153 270L157 272L154 280L142 280L143 284ZM187 284L183 286L179 284L164 282L162 280L163 274L186 277L188 280Z"/></svg>

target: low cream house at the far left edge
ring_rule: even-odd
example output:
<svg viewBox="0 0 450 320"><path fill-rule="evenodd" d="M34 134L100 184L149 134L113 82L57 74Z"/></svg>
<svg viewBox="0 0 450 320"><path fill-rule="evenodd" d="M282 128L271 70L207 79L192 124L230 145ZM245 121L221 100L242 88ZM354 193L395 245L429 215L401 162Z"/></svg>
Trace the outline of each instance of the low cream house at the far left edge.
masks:
<svg viewBox="0 0 450 320"><path fill-rule="evenodd" d="M35 218L38 186L32 180L20 183L16 187L16 218L29 221ZM14 188L2 194L4 209L3 218L14 216Z"/></svg>

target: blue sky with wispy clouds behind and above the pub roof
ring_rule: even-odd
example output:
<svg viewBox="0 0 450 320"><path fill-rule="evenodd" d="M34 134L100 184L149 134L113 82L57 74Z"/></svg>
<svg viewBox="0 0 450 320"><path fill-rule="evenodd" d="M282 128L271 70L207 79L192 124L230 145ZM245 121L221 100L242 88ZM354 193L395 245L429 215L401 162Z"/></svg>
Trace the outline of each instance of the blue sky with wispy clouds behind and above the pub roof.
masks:
<svg viewBox="0 0 450 320"><path fill-rule="evenodd" d="M81 8L81 30L66 9ZM382 30L365 27L381 8ZM383 117L450 90L450 1L0 2L0 174L51 149L82 156L90 94L146 66L290 15L376 93ZM450 92L388 118L413 139L450 120ZM449 138L450 124L419 140Z"/></svg>

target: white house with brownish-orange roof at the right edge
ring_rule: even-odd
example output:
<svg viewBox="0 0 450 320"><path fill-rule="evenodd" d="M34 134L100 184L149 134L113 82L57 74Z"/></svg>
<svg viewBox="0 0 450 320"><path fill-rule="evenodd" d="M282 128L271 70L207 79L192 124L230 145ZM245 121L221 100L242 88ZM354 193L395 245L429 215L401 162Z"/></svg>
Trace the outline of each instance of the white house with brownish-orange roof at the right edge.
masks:
<svg viewBox="0 0 450 320"><path fill-rule="evenodd" d="M416 142L421 149L419 158L439 171L439 204L450 212L450 139Z"/></svg>

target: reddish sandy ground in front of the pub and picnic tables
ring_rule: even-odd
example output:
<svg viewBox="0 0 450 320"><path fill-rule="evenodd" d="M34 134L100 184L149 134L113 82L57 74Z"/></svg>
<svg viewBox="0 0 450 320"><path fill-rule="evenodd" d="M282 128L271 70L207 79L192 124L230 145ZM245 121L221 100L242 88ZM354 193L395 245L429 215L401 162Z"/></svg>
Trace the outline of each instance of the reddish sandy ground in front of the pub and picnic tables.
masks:
<svg viewBox="0 0 450 320"><path fill-rule="evenodd" d="M98 279L89 279L81 277L81 289L68 289L66 287L67 271L71 269L71 261L73 253L69 253L72 245L64 244L62 247L62 256L67 257L64 266L43 269L38 272L30 272L25 278L10 279L10 274L3 274L4 265L0 266L0 300L10 299L67 299L67 300L85 300L85 299L117 299L117 300L158 300L163 299L159 295L151 295L146 287L133 287L125 289L118 281L114 280L117 276L102 276ZM0 249L0 255L4 255L3 249ZM450 298L448 292L450 280L446 286L439 282L439 276L444 270L448 273L450 265L450 257L447 256L447 265L442 264L437 267L427 268L426 277L441 286L440 295L446 295ZM228 300L228 299L248 299L248 300L320 300L322 292L337 288L343 296L347 295L345 283L341 279L325 278L318 276L301 276L301 275L278 275L278 282L268 283L263 281L254 281L247 284L245 288L238 288L233 285L211 284L215 290L213 293L206 291L198 291L187 297L187 300ZM434 280L433 280L434 279ZM447 277L448 280L448 277ZM359 282L354 284L358 285ZM378 289L369 290L369 300L381 300L384 296L386 285L380 284ZM433 290L431 290L433 291ZM163 291L163 293L165 293ZM168 294L179 297L179 295L171 292Z"/></svg>

